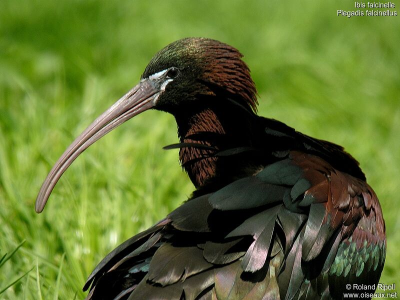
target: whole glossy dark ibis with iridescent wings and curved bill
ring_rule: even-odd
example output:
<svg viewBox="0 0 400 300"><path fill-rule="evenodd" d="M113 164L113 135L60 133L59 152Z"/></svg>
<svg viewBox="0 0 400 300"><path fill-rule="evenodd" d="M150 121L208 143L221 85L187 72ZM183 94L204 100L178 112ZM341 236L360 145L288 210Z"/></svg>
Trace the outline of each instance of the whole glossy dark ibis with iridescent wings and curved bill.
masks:
<svg viewBox="0 0 400 300"><path fill-rule="evenodd" d="M86 299L342 299L374 292L386 253L378 198L343 147L257 114L242 54L205 38L158 51L140 81L65 150L36 198L133 116L172 114L188 199L94 268ZM349 298L355 296L347 296Z"/></svg>

